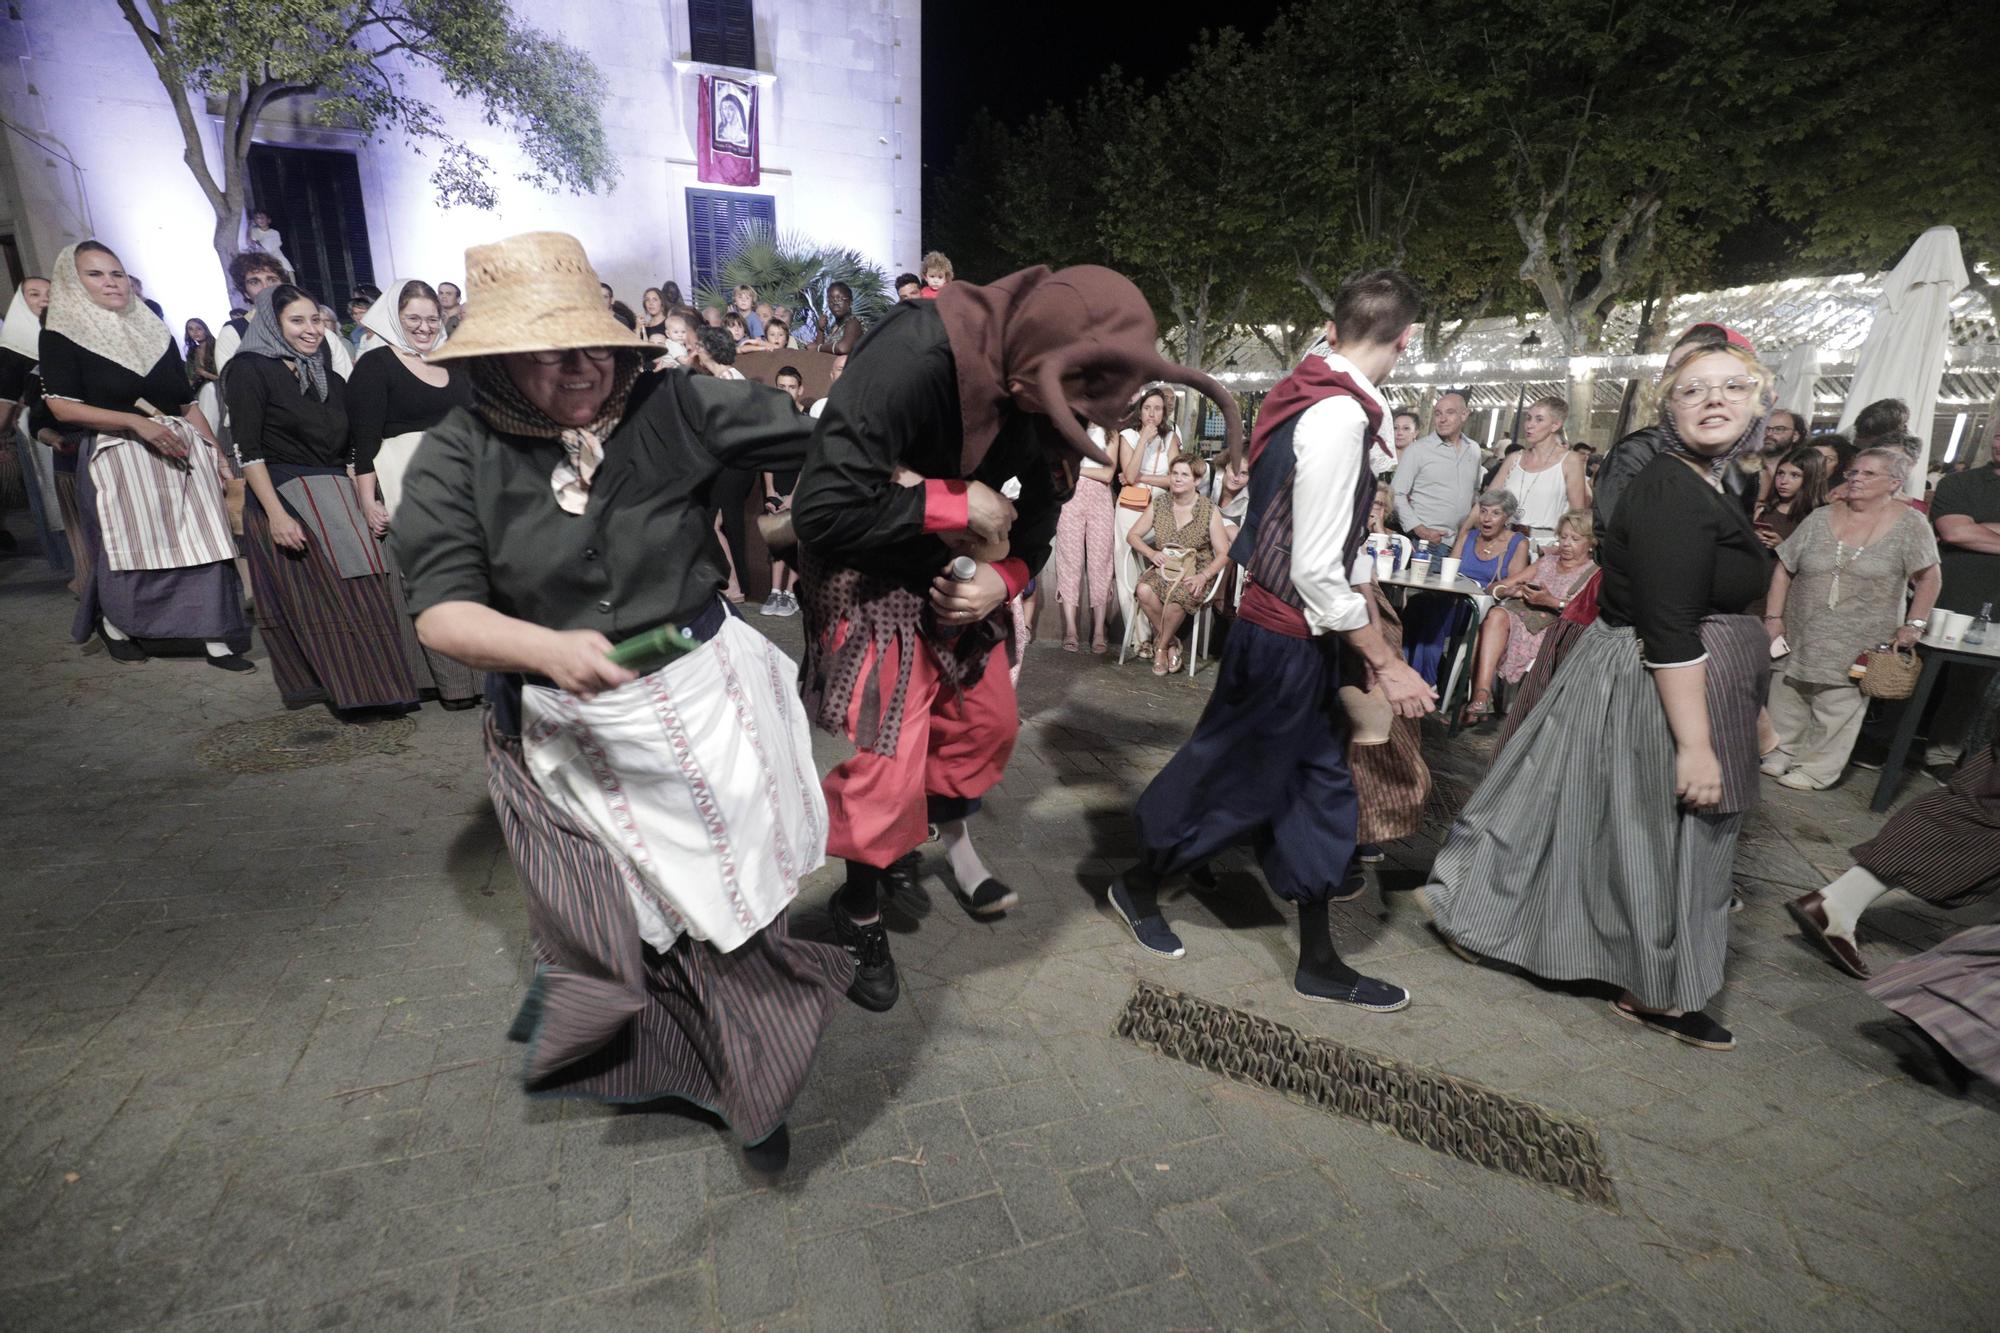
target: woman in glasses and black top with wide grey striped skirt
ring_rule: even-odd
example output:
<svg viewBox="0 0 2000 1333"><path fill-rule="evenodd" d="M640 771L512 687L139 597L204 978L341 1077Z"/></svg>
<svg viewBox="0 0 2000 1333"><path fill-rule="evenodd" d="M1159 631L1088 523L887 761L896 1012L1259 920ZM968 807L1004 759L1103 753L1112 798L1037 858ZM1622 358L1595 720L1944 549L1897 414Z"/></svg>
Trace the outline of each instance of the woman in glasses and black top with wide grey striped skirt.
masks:
<svg viewBox="0 0 2000 1333"><path fill-rule="evenodd" d="M1500 751L1432 865L1428 907L1462 957L1622 989L1620 1017L1706 1051L1730 871L1756 801L1770 679L1744 608L1770 552L1722 474L1770 406L1742 346L1662 380L1664 452L1626 486L1602 546L1600 618Z"/></svg>

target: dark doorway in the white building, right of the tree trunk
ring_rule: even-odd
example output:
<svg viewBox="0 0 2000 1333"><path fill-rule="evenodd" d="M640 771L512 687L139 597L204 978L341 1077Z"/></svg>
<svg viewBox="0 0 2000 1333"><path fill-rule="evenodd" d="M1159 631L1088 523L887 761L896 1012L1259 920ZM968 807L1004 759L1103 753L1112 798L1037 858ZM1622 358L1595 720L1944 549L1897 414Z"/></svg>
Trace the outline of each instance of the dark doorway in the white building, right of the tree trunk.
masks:
<svg viewBox="0 0 2000 1333"><path fill-rule="evenodd" d="M362 172L352 152L328 148L250 146L250 212L268 212L284 238L298 286L348 310L348 294L374 282Z"/></svg>

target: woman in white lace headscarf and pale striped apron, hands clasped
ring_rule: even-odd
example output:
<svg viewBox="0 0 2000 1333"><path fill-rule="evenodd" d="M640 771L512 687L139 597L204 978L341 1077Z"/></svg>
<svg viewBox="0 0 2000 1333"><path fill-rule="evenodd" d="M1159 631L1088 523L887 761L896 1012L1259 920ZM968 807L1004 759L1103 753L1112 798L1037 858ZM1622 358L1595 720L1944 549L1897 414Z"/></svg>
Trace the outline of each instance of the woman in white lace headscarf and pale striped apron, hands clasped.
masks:
<svg viewBox="0 0 2000 1333"><path fill-rule="evenodd" d="M250 622L222 500L226 468L174 334L96 240L58 254L50 286L42 386L58 428L80 436L76 510L88 550L70 636L102 636L120 662L146 658L136 640L192 638L210 664L254 671L242 658Z"/></svg>

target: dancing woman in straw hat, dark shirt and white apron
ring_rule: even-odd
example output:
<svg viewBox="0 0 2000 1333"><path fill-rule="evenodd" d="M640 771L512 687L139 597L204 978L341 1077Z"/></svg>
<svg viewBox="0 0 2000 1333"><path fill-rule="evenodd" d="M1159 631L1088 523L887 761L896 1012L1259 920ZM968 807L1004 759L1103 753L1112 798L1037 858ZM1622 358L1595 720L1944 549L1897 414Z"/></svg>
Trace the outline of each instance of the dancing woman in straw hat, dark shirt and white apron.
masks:
<svg viewBox="0 0 2000 1333"><path fill-rule="evenodd" d="M724 466L796 468L812 422L762 384L640 374L648 344L570 236L472 246L466 296L430 360L462 362L474 404L424 436L390 544L424 644L498 673L528 1093L692 1101L776 1169L852 969L786 927L826 803L796 666L722 600L708 492ZM608 656L662 628L688 650Z"/></svg>

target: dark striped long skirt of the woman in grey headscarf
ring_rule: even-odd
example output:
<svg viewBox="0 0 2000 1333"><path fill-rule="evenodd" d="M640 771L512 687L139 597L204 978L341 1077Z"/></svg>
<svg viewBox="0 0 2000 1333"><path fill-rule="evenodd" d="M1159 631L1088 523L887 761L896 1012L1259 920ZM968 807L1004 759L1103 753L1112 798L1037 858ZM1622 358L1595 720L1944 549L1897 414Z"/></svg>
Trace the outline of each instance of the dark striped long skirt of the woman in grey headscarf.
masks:
<svg viewBox="0 0 2000 1333"><path fill-rule="evenodd" d="M402 644L410 618L396 612L388 574L342 578L310 534L304 554L280 550L270 540L270 516L254 502L244 506L244 556L256 626L286 705L418 705Z"/></svg>

